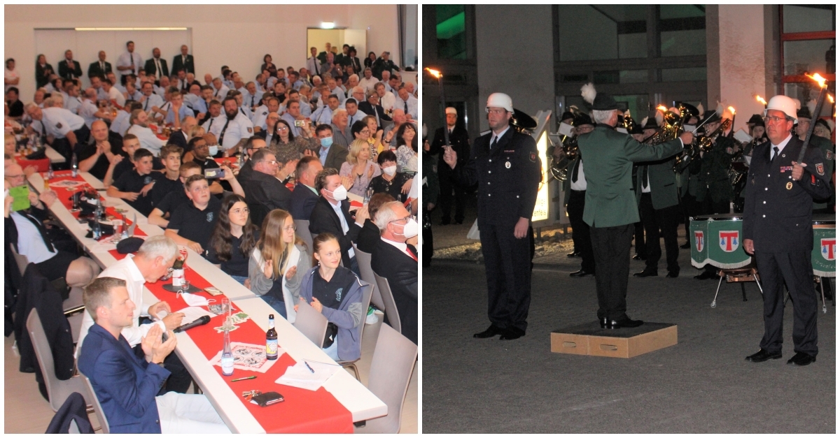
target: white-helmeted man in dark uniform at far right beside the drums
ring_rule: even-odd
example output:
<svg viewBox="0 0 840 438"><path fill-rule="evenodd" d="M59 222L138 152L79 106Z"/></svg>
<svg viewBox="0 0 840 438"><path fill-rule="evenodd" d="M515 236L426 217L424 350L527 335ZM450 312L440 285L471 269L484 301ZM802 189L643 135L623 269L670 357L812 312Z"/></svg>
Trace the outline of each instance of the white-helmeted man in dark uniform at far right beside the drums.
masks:
<svg viewBox="0 0 840 438"><path fill-rule="evenodd" d="M743 247L755 253L764 284L764 337L759 352L746 359L764 362L782 357L782 285L787 284L796 352L788 363L804 366L815 362L817 353L811 206L815 199L832 195L831 175L825 169L825 156L810 145L802 165L796 164L803 144L790 135L796 120L793 99L774 96L765 113L769 142L753 150L743 211Z"/></svg>

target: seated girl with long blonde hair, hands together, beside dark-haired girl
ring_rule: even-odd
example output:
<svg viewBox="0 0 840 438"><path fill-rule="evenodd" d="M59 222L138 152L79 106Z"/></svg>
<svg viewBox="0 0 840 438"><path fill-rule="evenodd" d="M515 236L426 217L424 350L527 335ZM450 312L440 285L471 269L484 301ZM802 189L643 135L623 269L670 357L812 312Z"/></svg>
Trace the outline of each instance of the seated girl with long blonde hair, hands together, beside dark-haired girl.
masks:
<svg viewBox="0 0 840 438"><path fill-rule="evenodd" d="M251 292L262 296L289 322L295 321L293 306L301 296L303 276L312 267L307 251L306 244L295 234L291 214L278 209L265 216L260 241L248 260Z"/></svg>

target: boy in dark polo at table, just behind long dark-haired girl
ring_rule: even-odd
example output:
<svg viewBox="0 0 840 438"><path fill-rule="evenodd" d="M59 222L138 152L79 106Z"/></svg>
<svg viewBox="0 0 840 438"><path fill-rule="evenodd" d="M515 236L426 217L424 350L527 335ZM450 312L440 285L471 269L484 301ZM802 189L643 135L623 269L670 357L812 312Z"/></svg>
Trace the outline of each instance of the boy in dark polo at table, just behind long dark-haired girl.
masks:
<svg viewBox="0 0 840 438"><path fill-rule="evenodd" d="M175 209L165 234L177 244L202 254L207 248L210 236L213 235L222 201L210 195L210 186L204 175L192 175L187 178L184 188L186 197L190 198L191 202Z"/></svg>

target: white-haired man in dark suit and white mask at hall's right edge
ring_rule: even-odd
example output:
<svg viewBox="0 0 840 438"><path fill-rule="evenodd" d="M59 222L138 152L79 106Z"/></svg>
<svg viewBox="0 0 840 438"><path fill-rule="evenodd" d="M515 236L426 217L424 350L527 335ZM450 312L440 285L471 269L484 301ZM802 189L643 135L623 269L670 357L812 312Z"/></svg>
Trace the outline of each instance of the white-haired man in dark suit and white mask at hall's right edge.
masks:
<svg viewBox="0 0 840 438"><path fill-rule="evenodd" d="M398 201L381 206L374 222L382 238L370 257L370 268L388 280L402 335L417 343L417 248L406 244L417 236L417 222Z"/></svg>

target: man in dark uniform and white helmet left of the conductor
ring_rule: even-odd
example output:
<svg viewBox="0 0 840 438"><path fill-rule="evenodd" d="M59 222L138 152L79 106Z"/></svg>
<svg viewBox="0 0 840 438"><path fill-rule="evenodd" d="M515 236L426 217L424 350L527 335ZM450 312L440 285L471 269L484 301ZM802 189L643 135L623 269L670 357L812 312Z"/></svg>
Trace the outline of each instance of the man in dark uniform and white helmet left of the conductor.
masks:
<svg viewBox="0 0 840 438"><path fill-rule="evenodd" d="M491 326L474 337L517 339L528 328L531 304L530 230L541 178L537 143L510 126L510 96L487 98L491 133L475 139L469 161L459 163L452 148L444 162L461 185L478 183L478 227L487 274L487 314Z"/></svg>

